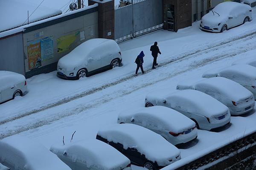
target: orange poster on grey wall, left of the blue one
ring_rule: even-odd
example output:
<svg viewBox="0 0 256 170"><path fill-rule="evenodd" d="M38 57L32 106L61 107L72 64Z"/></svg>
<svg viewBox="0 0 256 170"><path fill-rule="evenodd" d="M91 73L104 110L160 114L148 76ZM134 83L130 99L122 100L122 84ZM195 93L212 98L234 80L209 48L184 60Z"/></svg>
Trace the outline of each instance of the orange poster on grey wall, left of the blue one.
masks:
<svg viewBox="0 0 256 170"><path fill-rule="evenodd" d="M27 45L29 70L41 66L41 46L40 41L34 41Z"/></svg>

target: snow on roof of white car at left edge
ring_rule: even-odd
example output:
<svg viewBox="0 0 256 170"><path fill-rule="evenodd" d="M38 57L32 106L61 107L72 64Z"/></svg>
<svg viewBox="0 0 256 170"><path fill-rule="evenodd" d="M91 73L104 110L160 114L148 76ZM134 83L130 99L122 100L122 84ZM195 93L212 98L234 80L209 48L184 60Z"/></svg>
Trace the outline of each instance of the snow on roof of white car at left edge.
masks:
<svg viewBox="0 0 256 170"><path fill-rule="evenodd" d="M12 71L0 71L0 90L25 82L25 77Z"/></svg>

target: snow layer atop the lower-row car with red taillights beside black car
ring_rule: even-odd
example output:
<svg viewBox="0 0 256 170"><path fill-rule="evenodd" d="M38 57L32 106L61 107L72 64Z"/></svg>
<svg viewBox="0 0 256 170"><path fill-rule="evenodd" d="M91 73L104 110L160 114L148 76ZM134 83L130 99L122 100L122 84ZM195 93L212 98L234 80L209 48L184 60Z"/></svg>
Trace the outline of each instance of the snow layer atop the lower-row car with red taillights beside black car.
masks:
<svg viewBox="0 0 256 170"><path fill-rule="evenodd" d="M157 126L158 130L172 131L175 133L183 132L195 126L195 122L183 114L164 106L153 106L149 108L140 108L137 111L123 111L118 118L122 122L125 120L142 122L143 124Z"/></svg>

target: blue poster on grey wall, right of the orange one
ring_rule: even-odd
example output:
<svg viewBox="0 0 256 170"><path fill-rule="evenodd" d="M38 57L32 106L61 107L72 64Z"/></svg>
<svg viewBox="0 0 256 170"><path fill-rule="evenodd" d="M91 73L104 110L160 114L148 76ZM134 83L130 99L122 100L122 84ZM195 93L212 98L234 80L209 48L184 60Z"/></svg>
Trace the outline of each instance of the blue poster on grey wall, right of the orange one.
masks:
<svg viewBox="0 0 256 170"><path fill-rule="evenodd" d="M42 62L53 58L53 40L52 36L40 40Z"/></svg>

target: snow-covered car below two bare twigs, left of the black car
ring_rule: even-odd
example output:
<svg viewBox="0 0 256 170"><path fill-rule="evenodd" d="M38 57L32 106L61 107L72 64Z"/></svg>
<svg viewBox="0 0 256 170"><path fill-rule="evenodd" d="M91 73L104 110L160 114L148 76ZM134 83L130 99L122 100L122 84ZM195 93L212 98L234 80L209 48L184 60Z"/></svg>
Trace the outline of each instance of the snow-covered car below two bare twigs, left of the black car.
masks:
<svg viewBox="0 0 256 170"><path fill-rule="evenodd" d="M127 157L97 139L54 144L50 151L72 170L131 170L131 161Z"/></svg>

